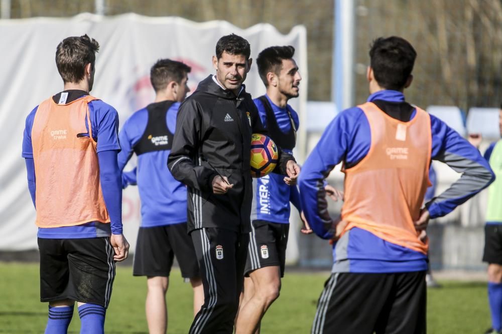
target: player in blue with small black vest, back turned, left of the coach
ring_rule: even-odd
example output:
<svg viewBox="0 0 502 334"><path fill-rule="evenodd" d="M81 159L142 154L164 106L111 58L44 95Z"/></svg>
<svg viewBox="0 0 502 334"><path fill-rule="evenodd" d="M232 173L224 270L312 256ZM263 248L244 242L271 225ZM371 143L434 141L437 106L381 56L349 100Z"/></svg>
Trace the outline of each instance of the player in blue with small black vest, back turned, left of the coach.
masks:
<svg viewBox="0 0 502 334"><path fill-rule="evenodd" d="M193 288L194 315L204 302L197 256L187 232L186 186L174 179L166 166L176 129L176 116L188 88L191 68L182 62L161 59L152 66L150 81L155 101L135 112L118 135L122 171L133 154L138 166L122 172L122 186L138 185L141 226L138 231L133 275L147 276L146 315L150 333L167 330L166 292L174 257L181 275Z"/></svg>

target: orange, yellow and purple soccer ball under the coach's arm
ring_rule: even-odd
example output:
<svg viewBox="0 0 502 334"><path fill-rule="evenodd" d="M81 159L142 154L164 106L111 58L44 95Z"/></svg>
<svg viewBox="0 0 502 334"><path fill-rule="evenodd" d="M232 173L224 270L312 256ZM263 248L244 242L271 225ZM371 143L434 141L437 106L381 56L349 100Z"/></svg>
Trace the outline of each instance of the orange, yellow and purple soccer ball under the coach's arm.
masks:
<svg viewBox="0 0 502 334"><path fill-rule="evenodd" d="M279 152L274 141L259 133L251 135L251 176L262 177L276 168Z"/></svg>

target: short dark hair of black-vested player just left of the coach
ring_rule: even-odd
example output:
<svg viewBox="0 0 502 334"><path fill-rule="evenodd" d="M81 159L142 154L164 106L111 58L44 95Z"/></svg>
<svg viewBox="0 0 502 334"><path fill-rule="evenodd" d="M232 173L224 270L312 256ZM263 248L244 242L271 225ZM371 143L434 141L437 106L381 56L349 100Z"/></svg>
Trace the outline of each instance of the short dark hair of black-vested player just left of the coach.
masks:
<svg viewBox="0 0 502 334"><path fill-rule="evenodd" d="M192 68L182 62L159 59L150 70L150 82L156 92L163 90L171 81L181 84Z"/></svg>

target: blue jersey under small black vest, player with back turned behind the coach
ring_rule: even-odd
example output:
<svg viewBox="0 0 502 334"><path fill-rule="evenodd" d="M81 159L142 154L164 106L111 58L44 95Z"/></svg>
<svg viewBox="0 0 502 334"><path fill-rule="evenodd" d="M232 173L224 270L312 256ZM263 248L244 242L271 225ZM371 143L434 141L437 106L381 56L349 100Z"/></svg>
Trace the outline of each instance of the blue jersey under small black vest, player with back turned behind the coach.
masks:
<svg viewBox="0 0 502 334"><path fill-rule="evenodd" d="M165 112L167 129L174 134L180 104L169 101L153 103L135 112L123 125L118 135L122 150L118 154L120 170L135 152L136 145L144 138L149 124L149 109L153 113ZM164 107L165 106L165 107ZM154 110L155 109L155 110ZM153 115L153 114L152 114ZM154 121L155 120L150 120ZM164 127L165 128L165 127ZM147 134L149 136L149 134ZM166 137L165 134L162 136ZM152 138L156 138L155 135ZM158 138L158 137L157 137ZM166 147L171 147L168 140ZM167 168L171 150L160 149L138 155L138 165L132 171L122 173L122 186L138 185L141 199L142 227L177 224L187 221L186 186L174 179Z"/></svg>

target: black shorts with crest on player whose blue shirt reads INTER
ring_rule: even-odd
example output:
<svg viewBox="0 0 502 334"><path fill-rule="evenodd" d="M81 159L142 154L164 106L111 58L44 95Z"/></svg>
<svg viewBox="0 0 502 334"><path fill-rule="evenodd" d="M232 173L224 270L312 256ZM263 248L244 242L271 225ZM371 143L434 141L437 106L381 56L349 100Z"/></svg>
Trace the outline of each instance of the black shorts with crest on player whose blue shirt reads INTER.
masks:
<svg viewBox="0 0 502 334"><path fill-rule="evenodd" d="M245 276L253 270L278 265L284 277L289 224L253 220L249 232Z"/></svg>

